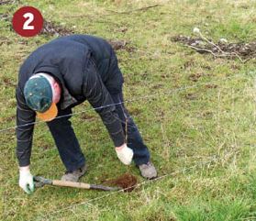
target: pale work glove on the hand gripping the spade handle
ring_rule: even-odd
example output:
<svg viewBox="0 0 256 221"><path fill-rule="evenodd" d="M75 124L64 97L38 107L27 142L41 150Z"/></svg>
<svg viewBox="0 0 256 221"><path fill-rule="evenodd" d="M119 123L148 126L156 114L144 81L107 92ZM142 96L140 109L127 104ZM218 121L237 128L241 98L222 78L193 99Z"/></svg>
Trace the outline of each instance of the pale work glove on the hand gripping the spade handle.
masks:
<svg viewBox="0 0 256 221"><path fill-rule="evenodd" d="M19 170L19 186L28 194L31 194L35 190L33 176L29 171L29 168L22 168Z"/></svg>

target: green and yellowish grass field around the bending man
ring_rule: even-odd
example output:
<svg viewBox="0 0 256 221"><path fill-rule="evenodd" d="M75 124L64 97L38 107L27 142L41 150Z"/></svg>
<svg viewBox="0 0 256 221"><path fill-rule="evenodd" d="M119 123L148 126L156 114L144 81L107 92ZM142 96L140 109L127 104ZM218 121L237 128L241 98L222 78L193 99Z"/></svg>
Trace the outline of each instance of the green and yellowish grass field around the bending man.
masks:
<svg viewBox="0 0 256 221"><path fill-rule="evenodd" d="M160 6L132 11L155 4ZM170 175L132 193L106 197L102 192L54 187L28 195L17 184L14 130L1 131L2 220L256 220L255 60L242 64L213 59L170 40L178 34L192 36L198 27L210 39L249 42L256 34L255 3L29 0L1 6L0 13L12 17L20 6L36 6L46 19L76 33L129 41L133 52L117 51L125 97L135 99L127 107L159 175ZM15 126L19 65L29 52L56 38L23 39L10 27L1 19L1 128ZM192 74L200 76L197 82L191 81ZM163 95L139 99L159 93ZM82 182L100 183L126 171L139 177L134 165L126 167L117 160L105 127L89 105L73 112L84 109L83 115L72 117L89 165ZM35 128L31 171L52 179L64 171L44 124Z"/></svg>

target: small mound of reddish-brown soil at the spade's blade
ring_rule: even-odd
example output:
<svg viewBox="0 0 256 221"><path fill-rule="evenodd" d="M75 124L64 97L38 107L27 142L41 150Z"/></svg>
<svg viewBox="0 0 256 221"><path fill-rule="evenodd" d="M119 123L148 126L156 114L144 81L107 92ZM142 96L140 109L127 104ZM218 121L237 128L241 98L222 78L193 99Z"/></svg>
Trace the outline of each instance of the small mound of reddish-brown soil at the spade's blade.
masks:
<svg viewBox="0 0 256 221"><path fill-rule="evenodd" d="M125 192L131 192L135 188L136 183L137 178L128 172L117 177L117 179L106 181L106 184L113 184L122 187Z"/></svg>

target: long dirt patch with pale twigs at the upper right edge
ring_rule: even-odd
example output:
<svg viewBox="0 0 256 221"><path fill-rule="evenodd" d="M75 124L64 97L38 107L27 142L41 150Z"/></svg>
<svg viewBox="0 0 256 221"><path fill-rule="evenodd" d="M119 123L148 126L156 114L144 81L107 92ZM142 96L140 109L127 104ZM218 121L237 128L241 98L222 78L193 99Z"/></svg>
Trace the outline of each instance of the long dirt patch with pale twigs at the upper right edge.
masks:
<svg viewBox="0 0 256 221"><path fill-rule="evenodd" d="M173 42L181 42L186 46L196 50L198 53L212 53L216 57L238 58L249 60L256 57L256 40L250 43L217 43L209 39L186 37L183 35L174 36L171 38Z"/></svg>

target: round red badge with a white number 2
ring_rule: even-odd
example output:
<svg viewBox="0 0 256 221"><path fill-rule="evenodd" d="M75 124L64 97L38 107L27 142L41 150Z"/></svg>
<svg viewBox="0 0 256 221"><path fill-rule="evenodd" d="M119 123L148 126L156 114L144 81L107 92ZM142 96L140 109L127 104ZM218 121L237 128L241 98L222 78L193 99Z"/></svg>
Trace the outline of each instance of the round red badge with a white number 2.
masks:
<svg viewBox="0 0 256 221"><path fill-rule="evenodd" d="M19 8L13 17L13 28L22 37L33 37L39 34L43 27L43 17L35 7Z"/></svg>

